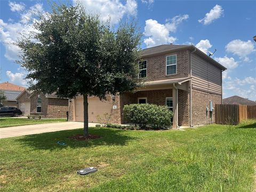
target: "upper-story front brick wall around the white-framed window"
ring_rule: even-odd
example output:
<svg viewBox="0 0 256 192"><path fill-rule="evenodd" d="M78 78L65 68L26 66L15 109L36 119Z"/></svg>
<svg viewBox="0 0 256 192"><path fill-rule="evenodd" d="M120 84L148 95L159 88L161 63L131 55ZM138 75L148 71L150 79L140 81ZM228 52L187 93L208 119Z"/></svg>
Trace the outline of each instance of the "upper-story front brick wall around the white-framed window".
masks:
<svg viewBox="0 0 256 192"><path fill-rule="evenodd" d="M166 56L177 54L177 74L166 75ZM147 60L147 80L188 77L189 51L176 51L143 58Z"/></svg>

